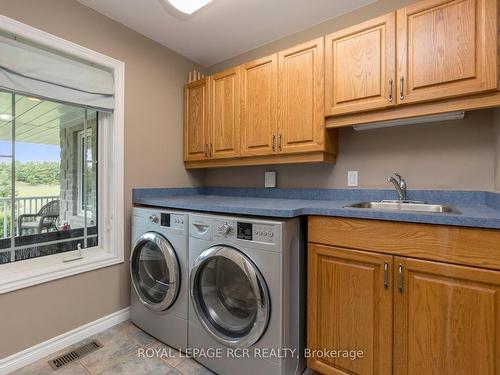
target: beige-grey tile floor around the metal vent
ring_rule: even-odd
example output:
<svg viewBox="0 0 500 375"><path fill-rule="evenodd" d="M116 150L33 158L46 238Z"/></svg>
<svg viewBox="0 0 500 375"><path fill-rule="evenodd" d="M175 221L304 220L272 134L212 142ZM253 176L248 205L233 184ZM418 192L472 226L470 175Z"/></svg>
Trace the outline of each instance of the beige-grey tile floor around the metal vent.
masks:
<svg viewBox="0 0 500 375"><path fill-rule="evenodd" d="M103 347L57 371L48 361L90 340L98 340ZM81 343L54 353L31 365L11 373L12 375L215 375L196 361L174 355L144 358L138 356L139 349L154 348L168 350L169 347L141 331L130 322L118 324L98 333ZM161 353L161 352L160 352ZM165 351L163 351L165 353ZM314 375L306 370L304 374ZM236 374L235 374L236 375Z"/></svg>

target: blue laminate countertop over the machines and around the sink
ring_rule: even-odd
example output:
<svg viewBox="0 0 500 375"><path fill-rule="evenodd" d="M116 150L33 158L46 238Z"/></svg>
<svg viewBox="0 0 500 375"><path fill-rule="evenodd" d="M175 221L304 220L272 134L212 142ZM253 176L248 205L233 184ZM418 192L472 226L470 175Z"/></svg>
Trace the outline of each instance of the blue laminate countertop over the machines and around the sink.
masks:
<svg viewBox="0 0 500 375"><path fill-rule="evenodd" d="M483 191L409 192L409 199L450 204L461 214L394 212L344 208L370 200L395 199L392 190L173 188L134 189L136 205L267 217L324 215L500 229L500 193Z"/></svg>

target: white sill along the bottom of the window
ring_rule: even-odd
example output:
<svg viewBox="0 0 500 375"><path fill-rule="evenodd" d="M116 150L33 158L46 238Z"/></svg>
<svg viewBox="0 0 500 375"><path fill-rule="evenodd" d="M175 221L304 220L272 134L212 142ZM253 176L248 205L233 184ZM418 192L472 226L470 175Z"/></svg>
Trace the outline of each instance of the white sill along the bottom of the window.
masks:
<svg viewBox="0 0 500 375"><path fill-rule="evenodd" d="M123 263L123 257L97 247L83 250L83 259L63 262L72 255L77 251L3 264L0 294Z"/></svg>

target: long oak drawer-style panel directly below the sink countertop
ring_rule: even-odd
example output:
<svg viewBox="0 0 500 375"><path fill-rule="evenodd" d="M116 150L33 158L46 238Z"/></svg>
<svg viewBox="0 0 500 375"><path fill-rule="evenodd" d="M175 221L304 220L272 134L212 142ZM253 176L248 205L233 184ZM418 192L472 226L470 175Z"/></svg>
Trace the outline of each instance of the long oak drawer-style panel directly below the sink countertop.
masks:
<svg viewBox="0 0 500 375"><path fill-rule="evenodd" d="M310 216L309 242L500 270L500 230Z"/></svg>

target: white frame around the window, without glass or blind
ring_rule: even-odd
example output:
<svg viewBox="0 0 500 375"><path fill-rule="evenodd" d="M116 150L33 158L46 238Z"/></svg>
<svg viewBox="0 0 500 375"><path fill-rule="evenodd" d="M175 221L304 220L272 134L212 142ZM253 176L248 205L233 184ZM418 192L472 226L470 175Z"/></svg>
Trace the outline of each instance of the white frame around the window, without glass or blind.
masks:
<svg viewBox="0 0 500 375"><path fill-rule="evenodd" d="M99 245L83 259L63 262L78 250L0 265L0 294L124 261L124 93L125 63L0 15L0 31L110 69L115 81L115 109L102 116L99 137ZM99 146L101 148L101 146Z"/></svg>

